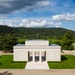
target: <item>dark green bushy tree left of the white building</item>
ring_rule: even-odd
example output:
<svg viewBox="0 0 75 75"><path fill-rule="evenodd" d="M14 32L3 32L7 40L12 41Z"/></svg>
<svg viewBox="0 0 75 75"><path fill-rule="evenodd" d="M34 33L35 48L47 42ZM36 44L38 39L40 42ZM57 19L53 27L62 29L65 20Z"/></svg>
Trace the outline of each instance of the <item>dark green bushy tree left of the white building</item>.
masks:
<svg viewBox="0 0 75 75"><path fill-rule="evenodd" d="M13 46L17 44L17 39L10 34L0 37L0 48L2 50L12 50Z"/></svg>

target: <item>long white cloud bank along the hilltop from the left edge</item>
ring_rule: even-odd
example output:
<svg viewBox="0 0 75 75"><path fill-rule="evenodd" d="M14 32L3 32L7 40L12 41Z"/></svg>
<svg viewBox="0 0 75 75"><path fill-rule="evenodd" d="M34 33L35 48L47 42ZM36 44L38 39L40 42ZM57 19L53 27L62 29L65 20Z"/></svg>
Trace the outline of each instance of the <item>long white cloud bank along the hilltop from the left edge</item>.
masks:
<svg viewBox="0 0 75 75"><path fill-rule="evenodd" d="M7 20L1 20L0 25L7 25L10 27L44 27L44 28L49 28L49 27L61 27L60 22L51 22L47 19L23 19L23 20L16 20L16 19L7 19Z"/></svg>

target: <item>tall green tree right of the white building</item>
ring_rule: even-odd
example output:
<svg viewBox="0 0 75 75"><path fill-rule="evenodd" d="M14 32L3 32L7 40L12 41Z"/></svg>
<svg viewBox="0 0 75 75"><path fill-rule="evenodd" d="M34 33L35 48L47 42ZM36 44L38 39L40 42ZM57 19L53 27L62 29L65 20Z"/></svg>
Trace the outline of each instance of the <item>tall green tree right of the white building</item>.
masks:
<svg viewBox="0 0 75 75"><path fill-rule="evenodd" d="M73 50L73 33L72 31L67 31L63 37L62 49Z"/></svg>

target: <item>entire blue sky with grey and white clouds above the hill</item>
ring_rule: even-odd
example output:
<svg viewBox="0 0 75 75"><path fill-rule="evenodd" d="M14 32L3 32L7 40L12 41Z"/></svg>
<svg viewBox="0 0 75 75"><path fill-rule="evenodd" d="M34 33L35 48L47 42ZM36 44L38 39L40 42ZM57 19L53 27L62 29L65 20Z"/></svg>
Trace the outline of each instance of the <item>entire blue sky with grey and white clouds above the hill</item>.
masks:
<svg viewBox="0 0 75 75"><path fill-rule="evenodd" d="M0 0L0 25L75 31L75 0Z"/></svg>

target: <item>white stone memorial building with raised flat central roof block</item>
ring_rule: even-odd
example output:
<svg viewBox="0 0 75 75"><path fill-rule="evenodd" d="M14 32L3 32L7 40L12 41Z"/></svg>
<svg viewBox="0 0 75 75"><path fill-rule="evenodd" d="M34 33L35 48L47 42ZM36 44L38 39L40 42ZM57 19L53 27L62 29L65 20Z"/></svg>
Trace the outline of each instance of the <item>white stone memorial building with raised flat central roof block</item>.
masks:
<svg viewBox="0 0 75 75"><path fill-rule="evenodd" d="M48 40L26 40L14 46L13 51L14 61L61 61L61 46L49 44Z"/></svg>

